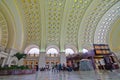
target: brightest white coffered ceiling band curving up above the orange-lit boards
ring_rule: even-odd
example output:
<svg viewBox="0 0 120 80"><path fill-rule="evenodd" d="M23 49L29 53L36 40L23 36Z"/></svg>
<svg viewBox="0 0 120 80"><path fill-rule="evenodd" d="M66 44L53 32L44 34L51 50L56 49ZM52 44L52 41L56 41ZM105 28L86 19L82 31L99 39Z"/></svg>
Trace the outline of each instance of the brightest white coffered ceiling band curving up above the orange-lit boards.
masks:
<svg viewBox="0 0 120 80"><path fill-rule="evenodd" d="M94 43L108 43L108 32L111 24L120 16L120 2L111 7L99 21L96 27Z"/></svg>

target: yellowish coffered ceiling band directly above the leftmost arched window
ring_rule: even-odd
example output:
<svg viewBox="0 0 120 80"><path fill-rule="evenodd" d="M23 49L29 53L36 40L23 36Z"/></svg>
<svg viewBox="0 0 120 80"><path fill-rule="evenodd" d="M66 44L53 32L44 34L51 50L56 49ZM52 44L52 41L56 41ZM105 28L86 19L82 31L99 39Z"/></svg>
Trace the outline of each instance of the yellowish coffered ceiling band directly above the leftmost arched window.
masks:
<svg viewBox="0 0 120 80"><path fill-rule="evenodd" d="M40 4L39 0L21 0L18 2L19 8L22 8L24 17L24 29L26 37L26 45L40 45L41 24L40 24ZM22 4L20 6L20 4Z"/></svg>

